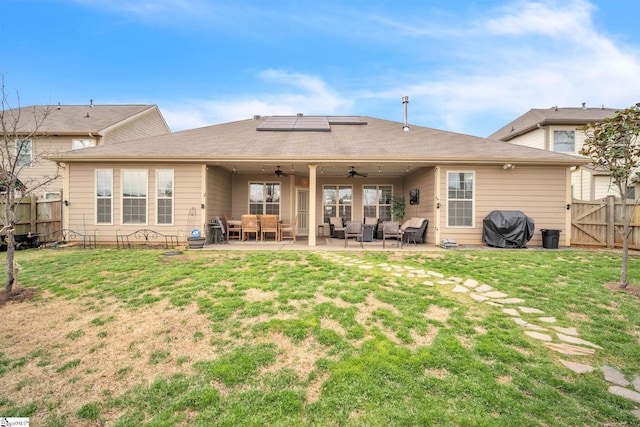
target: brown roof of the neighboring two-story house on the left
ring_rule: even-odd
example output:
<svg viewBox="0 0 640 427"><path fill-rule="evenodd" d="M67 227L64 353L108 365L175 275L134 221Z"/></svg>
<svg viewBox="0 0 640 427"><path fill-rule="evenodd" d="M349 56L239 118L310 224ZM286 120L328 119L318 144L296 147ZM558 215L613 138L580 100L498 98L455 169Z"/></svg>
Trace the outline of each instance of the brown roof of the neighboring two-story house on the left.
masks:
<svg viewBox="0 0 640 427"><path fill-rule="evenodd" d="M5 111L5 122L11 117L19 118L17 133L31 133L37 126L38 134L102 136L114 126L152 110L162 117L156 105L36 105ZM46 120L36 124L45 112ZM169 132L168 126L166 129Z"/></svg>

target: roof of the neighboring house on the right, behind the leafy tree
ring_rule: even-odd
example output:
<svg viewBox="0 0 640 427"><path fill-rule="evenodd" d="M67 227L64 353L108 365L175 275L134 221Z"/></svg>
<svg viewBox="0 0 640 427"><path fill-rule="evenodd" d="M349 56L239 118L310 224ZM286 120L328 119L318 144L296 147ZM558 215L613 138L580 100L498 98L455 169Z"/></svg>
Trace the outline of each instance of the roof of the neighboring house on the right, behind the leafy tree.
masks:
<svg viewBox="0 0 640 427"><path fill-rule="evenodd" d="M538 127L547 125L576 125L584 126L587 123L601 122L607 117L612 117L615 108L534 108L508 123L500 130L489 135L489 139L509 141L517 136L524 135Z"/></svg>

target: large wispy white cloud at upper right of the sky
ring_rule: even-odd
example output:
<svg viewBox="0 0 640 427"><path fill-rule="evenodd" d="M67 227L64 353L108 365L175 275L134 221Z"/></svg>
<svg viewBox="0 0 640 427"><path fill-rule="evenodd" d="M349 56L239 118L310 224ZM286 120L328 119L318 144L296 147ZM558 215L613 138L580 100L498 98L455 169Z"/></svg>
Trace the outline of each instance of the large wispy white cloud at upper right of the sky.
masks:
<svg viewBox="0 0 640 427"><path fill-rule="evenodd" d="M638 52L600 34L591 20L592 9L585 1L505 6L476 26L477 44L472 40L456 45L464 60L427 76L403 76L398 88L380 95L406 93L414 118L427 117L425 125L480 136L505 124L488 127L492 115L512 114L511 120L531 108L581 102L592 107L633 105L640 94Z"/></svg>

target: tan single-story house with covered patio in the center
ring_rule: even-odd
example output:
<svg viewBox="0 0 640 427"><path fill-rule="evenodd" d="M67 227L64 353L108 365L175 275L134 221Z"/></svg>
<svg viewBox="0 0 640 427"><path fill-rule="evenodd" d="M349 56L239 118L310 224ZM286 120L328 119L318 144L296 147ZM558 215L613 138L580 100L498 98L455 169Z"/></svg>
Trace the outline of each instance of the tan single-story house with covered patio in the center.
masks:
<svg viewBox="0 0 640 427"><path fill-rule="evenodd" d="M536 230L571 230L575 155L361 116L254 116L59 153L64 227L100 241L153 229L186 240L217 216L275 213L317 243L333 216L429 220L427 242L482 244L483 218L520 210ZM412 197L409 203L409 196ZM417 197L416 197L417 196ZM532 246L541 245L536 233Z"/></svg>

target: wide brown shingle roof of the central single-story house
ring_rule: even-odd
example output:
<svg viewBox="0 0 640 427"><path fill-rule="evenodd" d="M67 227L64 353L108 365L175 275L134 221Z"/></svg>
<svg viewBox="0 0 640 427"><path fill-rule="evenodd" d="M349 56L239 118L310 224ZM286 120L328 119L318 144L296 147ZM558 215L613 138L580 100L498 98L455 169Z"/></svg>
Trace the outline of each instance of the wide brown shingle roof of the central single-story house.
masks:
<svg viewBox="0 0 640 427"><path fill-rule="evenodd" d="M282 123L285 123L284 125ZM259 117L60 153L62 162L582 165L582 157L361 116ZM230 169L230 166L228 166Z"/></svg>

